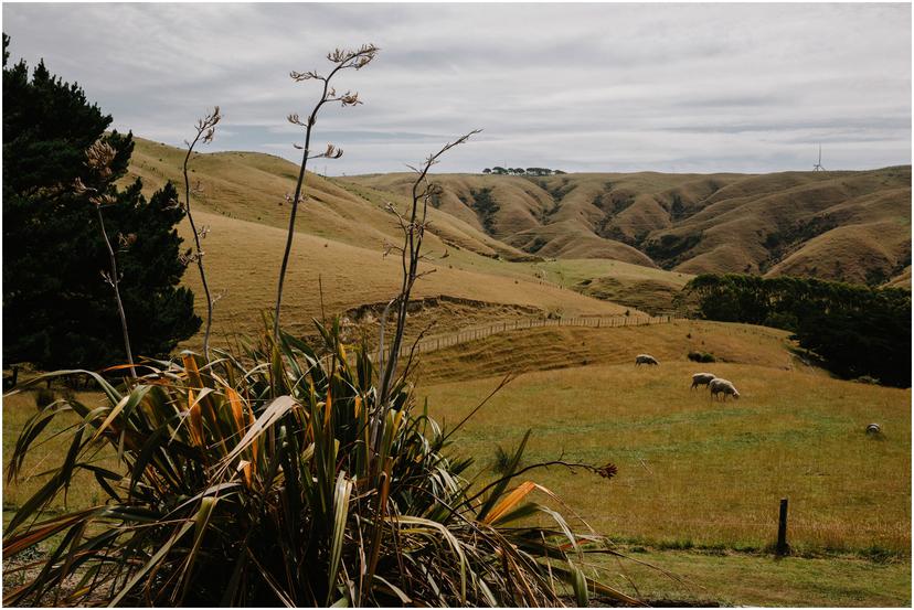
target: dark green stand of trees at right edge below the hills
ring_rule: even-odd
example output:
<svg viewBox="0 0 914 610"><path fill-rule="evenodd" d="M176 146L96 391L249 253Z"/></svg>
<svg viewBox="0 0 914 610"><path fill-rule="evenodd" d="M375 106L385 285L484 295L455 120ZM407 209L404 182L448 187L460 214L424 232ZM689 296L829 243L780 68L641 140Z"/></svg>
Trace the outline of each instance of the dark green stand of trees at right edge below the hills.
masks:
<svg viewBox="0 0 914 610"><path fill-rule="evenodd" d="M700 318L795 333L833 373L911 385L911 292L814 278L701 275L686 285Z"/></svg>

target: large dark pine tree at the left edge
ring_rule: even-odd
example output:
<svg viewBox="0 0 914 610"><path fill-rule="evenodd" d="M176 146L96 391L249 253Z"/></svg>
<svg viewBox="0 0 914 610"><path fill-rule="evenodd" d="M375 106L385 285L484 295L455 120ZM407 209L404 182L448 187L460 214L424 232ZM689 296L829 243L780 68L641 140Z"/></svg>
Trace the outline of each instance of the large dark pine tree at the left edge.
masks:
<svg viewBox="0 0 914 610"><path fill-rule="evenodd" d="M76 84L40 63L8 66L3 35L3 361L41 368L98 368L125 362L117 304L102 274L109 269L95 204L77 179L115 203L104 210L118 248L132 351L164 356L196 332L193 295L179 288L184 265L176 225L184 213L171 184L147 201L140 181L118 190L132 136L111 122ZM102 183L86 149L103 139L116 151Z"/></svg>

